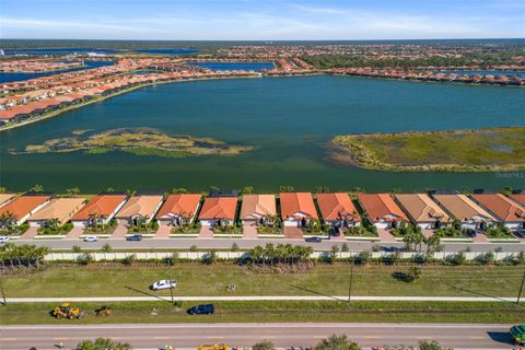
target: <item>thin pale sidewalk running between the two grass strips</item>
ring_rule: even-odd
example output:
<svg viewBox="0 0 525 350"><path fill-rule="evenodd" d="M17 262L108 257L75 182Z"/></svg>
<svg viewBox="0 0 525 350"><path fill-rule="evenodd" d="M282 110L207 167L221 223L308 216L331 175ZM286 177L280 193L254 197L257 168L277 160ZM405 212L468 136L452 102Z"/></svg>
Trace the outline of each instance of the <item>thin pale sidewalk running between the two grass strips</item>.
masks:
<svg viewBox="0 0 525 350"><path fill-rule="evenodd" d="M165 301L170 296L49 296L49 298L7 298L8 303L46 303L46 302L155 302ZM348 301L348 295L236 295L236 296L180 296L177 301ZM352 301L395 301L395 302L511 302L515 303L516 298L506 296L360 296L354 295Z"/></svg>

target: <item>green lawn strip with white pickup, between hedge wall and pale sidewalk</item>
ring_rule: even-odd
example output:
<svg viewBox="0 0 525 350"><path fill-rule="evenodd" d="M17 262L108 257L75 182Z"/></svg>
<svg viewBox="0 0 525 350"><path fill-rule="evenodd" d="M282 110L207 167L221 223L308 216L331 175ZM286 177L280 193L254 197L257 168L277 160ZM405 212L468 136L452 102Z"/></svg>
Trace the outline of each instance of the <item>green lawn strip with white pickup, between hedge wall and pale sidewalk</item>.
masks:
<svg viewBox="0 0 525 350"><path fill-rule="evenodd" d="M172 277L178 281L175 295L347 295L349 265L317 265L304 273L260 273L236 265L177 264ZM394 272L406 272L408 266L355 267L354 295L444 295L444 296L516 296L523 267L498 266L423 266L419 280L399 281ZM126 267L102 264L50 267L32 275L2 277L8 298L22 296L124 296L143 295L148 285L167 279L167 267ZM228 292L229 283L236 284ZM135 290L128 289L132 288ZM139 291L137 291L139 290ZM156 292L168 295L168 291Z"/></svg>

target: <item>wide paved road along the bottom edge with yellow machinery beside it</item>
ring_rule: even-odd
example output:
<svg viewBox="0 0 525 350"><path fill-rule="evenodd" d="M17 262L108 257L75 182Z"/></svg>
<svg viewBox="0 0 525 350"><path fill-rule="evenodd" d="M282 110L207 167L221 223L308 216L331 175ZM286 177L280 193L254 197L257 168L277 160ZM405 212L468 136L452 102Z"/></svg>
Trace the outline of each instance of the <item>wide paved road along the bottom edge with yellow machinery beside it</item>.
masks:
<svg viewBox="0 0 525 350"><path fill-rule="evenodd" d="M277 347L312 346L332 334L346 334L363 347L416 345L435 340L442 346L462 349L510 349L510 325L454 324L178 324L178 325L81 325L4 326L0 328L0 348L52 349L63 342L67 349L83 339L109 337L130 342L136 349L176 349L201 343L228 343L247 347L262 339Z"/></svg>

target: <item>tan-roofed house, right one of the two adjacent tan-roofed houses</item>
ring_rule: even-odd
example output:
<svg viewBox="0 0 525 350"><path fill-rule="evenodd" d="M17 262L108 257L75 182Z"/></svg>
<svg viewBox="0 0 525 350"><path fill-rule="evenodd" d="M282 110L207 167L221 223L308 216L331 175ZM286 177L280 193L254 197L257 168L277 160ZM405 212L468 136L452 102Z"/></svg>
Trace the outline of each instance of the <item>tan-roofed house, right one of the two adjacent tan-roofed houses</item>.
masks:
<svg viewBox="0 0 525 350"><path fill-rule="evenodd" d="M433 198L454 219L462 222L462 228L485 230L498 221L465 195L434 195Z"/></svg>

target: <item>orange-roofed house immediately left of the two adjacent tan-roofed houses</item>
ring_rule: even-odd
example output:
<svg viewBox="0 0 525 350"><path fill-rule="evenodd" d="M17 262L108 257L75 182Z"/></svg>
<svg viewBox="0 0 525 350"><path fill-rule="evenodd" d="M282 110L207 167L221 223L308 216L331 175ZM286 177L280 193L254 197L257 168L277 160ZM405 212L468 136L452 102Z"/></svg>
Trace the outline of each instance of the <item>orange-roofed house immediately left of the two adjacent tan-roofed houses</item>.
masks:
<svg viewBox="0 0 525 350"><path fill-rule="evenodd" d="M358 202L377 229L397 228L409 221L388 194L358 194Z"/></svg>

